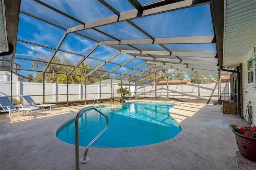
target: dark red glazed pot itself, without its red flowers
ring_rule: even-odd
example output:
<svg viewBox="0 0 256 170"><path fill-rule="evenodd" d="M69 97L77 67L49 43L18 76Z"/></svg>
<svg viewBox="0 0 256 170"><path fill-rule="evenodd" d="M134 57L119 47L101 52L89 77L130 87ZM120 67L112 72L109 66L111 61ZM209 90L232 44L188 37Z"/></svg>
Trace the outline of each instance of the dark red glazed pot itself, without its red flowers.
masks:
<svg viewBox="0 0 256 170"><path fill-rule="evenodd" d="M256 138L244 136L234 130L232 132L235 134L236 144L241 155L248 160L256 162Z"/></svg>

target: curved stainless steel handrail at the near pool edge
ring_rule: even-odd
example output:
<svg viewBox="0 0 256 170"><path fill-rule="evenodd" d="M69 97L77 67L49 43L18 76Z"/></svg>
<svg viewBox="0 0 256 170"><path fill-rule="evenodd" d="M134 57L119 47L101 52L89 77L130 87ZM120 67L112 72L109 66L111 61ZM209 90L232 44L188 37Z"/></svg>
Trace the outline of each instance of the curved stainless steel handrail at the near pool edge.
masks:
<svg viewBox="0 0 256 170"><path fill-rule="evenodd" d="M76 147L76 170L80 170L79 168L79 140L78 140L78 118L80 116L80 114L83 114L84 111L87 110L96 110L98 113L100 113L101 115L106 117L106 127L86 146L86 150L84 151L84 158L82 158L80 160L81 163L85 164L86 162L89 161L89 158L87 158L87 152L90 148L90 146L100 137L100 135L103 134L103 132L105 132L105 130L108 128L108 116L105 115L104 113L100 112L100 110L96 109L94 106L89 106L87 108L83 108L81 110L79 110L79 112L76 115L76 120L75 120L75 147Z"/></svg>

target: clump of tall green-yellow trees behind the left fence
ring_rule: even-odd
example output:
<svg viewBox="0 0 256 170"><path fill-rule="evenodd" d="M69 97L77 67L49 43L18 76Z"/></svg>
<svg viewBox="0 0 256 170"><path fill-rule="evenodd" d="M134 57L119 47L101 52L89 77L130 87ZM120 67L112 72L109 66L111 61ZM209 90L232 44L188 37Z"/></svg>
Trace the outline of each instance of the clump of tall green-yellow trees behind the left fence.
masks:
<svg viewBox="0 0 256 170"><path fill-rule="evenodd" d="M50 61L50 56L44 54L38 54L33 58L35 61L32 63L32 69L37 70L38 68L44 69L48 62ZM71 57L65 55L63 52L58 52L52 59L51 64L48 66L45 73L45 81L47 83L67 83L67 74L72 69L71 66L78 61L71 61ZM62 65L65 64L65 65ZM92 62L90 64L82 62L69 76L68 83L71 84L85 84L85 76L90 73L92 68L96 68L99 65L97 62ZM89 69L91 68L91 69ZM86 84L92 84L98 82L100 76L103 75L105 68L101 67L101 71L95 71L93 74L86 78ZM62 74L58 74L62 73ZM92 76L92 77L91 77ZM43 74L41 72L35 73L34 82L43 82Z"/></svg>

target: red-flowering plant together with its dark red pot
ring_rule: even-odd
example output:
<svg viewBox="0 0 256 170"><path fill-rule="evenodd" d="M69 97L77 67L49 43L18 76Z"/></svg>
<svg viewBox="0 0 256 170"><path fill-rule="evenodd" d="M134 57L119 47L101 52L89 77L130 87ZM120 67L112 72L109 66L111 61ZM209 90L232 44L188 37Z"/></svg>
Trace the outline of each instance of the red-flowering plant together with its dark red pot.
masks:
<svg viewBox="0 0 256 170"><path fill-rule="evenodd" d="M242 156L256 162L256 126L242 126L238 128L230 124L236 137L236 144Z"/></svg>

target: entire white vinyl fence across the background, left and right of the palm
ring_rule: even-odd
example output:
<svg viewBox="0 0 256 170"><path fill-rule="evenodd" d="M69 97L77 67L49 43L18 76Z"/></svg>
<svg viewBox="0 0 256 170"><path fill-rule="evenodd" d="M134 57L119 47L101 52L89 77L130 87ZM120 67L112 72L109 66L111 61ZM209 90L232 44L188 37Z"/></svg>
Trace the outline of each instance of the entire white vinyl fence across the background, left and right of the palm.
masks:
<svg viewBox="0 0 256 170"><path fill-rule="evenodd" d="M129 86L126 86L129 89ZM108 99L110 96L120 96L116 90L120 86L99 86L46 83L45 102L64 102ZM230 100L229 83L188 84L166 86L130 86L132 97L162 97L177 99L205 99L205 100ZM35 102L43 101L43 83L13 82L12 96L19 101L20 95L30 95ZM0 82L0 96L11 96L11 83ZM126 94L126 97L129 97Z"/></svg>

